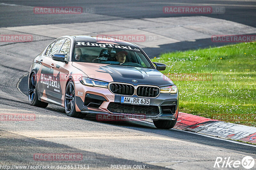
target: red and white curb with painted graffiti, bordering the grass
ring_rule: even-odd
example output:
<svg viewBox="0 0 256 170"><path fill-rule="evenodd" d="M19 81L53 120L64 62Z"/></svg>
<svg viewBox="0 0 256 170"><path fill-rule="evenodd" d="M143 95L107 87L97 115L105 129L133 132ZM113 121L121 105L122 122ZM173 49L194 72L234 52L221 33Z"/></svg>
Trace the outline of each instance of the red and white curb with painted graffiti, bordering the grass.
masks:
<svg viewBox="0 0 256 170"><path fill-rule="evenodd" d="M256 127L226 123L179 112L175 129L256 144Z"/></svg>

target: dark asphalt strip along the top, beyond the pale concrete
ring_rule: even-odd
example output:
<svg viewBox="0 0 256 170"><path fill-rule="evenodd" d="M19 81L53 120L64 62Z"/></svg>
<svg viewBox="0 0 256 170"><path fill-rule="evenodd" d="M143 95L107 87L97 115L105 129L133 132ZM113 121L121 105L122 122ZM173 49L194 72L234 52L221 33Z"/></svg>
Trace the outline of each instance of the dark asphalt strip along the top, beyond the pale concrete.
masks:
<svg viewBox="0 0 256 170"><path fill-rule="evenodd" d="M231 0L93 0L93 1L51 1L51 0L1 0L0 3L15 4L20 6L0 6L1 27L23 26L23 25L41 25L41 24L63 24L63 23L81 23L91 21L108 21L110 19L121 18L159 18L159 17L183 17L183 16L207 16L220 18L241 24L256 27L256 1L231 1ZM224 14L164 14L164 6L224 6ZM28 8L28 7L30 8ZM98 17L92 17L90 13L79 15L35 15L31 9L35 6L79 6L84 11L94 8L93 14ZM10 10L11 9L11 10ZM6 19L6 17L8 19Z"/></svg>

